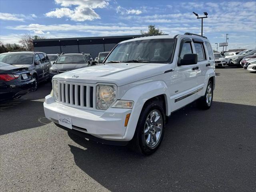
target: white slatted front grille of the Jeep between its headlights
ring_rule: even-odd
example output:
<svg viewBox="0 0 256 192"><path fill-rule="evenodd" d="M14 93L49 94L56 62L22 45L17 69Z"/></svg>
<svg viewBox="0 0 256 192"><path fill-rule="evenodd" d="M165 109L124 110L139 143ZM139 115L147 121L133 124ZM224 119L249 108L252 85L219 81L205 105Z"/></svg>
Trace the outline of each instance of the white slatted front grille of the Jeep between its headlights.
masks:
<svg viewBox="0 0 256 192"><path fill-rule="evenodd" d="M78 108L95 108L95 86L73 82L58 82L58 102Z"/></svg>

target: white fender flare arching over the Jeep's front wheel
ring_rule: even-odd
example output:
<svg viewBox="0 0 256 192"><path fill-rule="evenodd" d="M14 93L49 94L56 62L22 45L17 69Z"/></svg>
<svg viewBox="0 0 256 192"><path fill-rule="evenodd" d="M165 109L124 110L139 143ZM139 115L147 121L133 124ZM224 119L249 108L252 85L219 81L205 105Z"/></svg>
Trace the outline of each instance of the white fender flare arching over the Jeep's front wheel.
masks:
<svg viewBox="0 0 256 192"><path fill-rule="evenodd" d="M134 101L134 106L132 108L132 112L130 115L130 120L126 127L126 131L123 140L131 140L134 136L134 132L136 130L136 126L138 123L138 119L140 117L140 113L146 101L151 98L154 98L159 95L164 95L165 104L166 104L166 114L168 114L168 109L170 108L170 94L168 91L168 87L164 81L158 80L154 82L148 82L146 84L138 85L129 89L124 96L122 96L122 100L132 100Z"/></svg>

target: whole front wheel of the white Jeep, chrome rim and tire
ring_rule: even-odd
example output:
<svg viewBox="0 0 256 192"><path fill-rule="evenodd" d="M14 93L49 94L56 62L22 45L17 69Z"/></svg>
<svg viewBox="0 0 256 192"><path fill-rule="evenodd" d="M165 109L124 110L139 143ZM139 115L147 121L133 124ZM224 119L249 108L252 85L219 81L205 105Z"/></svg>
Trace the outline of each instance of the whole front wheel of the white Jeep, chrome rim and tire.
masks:
<svg viewBox="0 0 256 192"><path fill-rule="evenodd" d="M162 104L149 102L143 109L138 120L132 148L144 155L153 154L160 146L164 137L165 116Z"/></svg>

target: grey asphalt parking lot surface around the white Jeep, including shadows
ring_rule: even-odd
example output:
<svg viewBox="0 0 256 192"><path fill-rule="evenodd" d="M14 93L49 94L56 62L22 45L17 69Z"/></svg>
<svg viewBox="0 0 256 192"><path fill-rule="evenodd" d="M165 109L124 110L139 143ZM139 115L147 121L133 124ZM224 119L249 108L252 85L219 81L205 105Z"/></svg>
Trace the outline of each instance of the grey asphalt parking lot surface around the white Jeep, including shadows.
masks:
<svg viewBox="0 0 256 192"><path fill-rule="evenodd" d="M216 69L210 110L175 112L152 156L68 134L36 92L0 104L0 191L256 191L256 74Z"/></svg>

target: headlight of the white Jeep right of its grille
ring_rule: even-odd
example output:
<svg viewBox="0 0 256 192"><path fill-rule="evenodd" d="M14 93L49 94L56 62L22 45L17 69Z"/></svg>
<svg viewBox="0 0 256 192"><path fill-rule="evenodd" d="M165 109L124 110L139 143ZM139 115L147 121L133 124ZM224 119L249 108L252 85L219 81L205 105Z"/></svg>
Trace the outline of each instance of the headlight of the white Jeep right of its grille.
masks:
<svg viewBox="0 0 256 192"><path fill-rule="evenodd" d="M98 85L96 89L97 109L106 110L116 99L114 86Z"/></svg>

